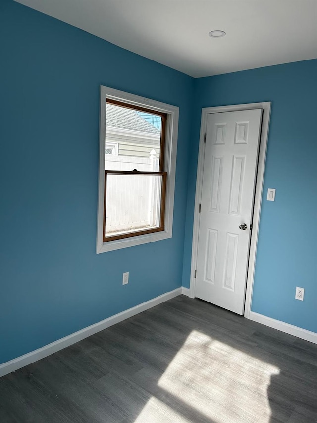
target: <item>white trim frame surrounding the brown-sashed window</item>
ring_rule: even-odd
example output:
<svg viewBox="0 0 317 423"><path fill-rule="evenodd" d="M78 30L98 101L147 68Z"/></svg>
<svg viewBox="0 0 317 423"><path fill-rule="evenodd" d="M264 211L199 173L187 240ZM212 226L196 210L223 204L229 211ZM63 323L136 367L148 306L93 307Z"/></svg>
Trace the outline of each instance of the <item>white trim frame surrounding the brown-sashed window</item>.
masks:
<svg viewBox="0 0 317 423"><path fill-rule="evenodd" d="M135 106L147 107L158 112L166 113L166 135L164 171L167 172L165 221L164 231L151 234L138 235L136 237L122 238L114 241L103 242L104 228L104 196L105 196L105 147L106 147L106 99L110 98ZM165 240L172 237L176 153L178 135L179 108L159 101L140 97L114 88L100 86L100 138L99 138L99 183L98 183L98 215L97 215L97 246L96 253L113 251L120 248L132 247L148 242Z"/></svg>

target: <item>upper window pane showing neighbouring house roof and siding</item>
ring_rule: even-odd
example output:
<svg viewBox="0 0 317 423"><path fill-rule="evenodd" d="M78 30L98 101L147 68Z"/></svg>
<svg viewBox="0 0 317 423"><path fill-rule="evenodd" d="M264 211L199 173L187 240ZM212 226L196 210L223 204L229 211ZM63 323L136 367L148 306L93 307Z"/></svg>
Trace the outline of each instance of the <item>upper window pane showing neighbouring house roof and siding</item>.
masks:
<svg viewBox="0 0 317 423"><path fill-rule="evenodd" d="M117 153L105 154L105 170L159 171L162 117L150 112L106 103L106 145Z"/></svg>

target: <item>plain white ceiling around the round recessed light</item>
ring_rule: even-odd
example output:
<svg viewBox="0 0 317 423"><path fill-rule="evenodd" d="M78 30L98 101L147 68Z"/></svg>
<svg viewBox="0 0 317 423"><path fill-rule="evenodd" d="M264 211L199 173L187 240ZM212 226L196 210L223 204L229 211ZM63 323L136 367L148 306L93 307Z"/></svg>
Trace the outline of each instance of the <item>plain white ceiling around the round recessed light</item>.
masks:
<svg viewBox="0 0 317 423"><path fill-rule="evenodd" d="M317 58L317 0L16 1L194 77Z"/></svg>

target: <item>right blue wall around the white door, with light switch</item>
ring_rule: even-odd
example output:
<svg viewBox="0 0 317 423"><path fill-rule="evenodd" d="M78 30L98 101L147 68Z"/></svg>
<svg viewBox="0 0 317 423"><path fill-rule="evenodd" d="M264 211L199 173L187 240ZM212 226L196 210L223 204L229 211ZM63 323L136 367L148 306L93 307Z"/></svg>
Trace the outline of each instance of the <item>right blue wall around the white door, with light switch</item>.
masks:
<svg viewBox="0 0 317 423"><path fill-rule="evenodd" d="M201 108L271 101L252 310L317 332L317 60L195 80L183 286L189 286ZM276 188L275 202L266 201ZM295 287L305 288L304 301Z"/></svg>

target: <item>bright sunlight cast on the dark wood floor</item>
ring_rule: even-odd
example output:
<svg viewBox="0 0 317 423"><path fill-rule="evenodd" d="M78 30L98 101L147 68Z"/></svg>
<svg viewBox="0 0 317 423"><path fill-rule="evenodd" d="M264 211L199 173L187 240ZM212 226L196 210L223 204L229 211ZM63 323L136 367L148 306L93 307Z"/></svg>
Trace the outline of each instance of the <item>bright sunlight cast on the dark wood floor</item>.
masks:
<svg viewBox="0 0 317 423"><path fill-rule="evenodd" d="M159 379L158 386L166 395L178 398L212 421L268 423L271 412L267 388L271 376L276 374L278 367L194 330ZM147 408L156 401L152 397L139 417L143 419ZM136 420L142 421L146 420ZM175 417L174 421L186 422L186 419Z"/></svg>

